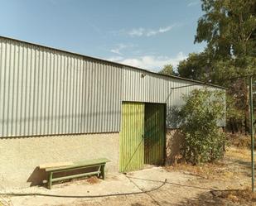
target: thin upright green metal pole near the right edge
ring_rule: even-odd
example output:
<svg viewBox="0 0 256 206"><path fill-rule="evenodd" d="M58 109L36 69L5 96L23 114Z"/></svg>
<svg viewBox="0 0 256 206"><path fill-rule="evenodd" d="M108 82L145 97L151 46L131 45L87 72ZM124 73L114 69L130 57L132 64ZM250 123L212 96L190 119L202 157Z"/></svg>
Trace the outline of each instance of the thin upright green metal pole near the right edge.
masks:
<svg viewBox="0 0 256 206"><path fill-rule="evenodd" d="M254 192L254 103L253 103L253 76L249 78L250 127L251 127L251 159L252 159L252 191Z"/></svg>

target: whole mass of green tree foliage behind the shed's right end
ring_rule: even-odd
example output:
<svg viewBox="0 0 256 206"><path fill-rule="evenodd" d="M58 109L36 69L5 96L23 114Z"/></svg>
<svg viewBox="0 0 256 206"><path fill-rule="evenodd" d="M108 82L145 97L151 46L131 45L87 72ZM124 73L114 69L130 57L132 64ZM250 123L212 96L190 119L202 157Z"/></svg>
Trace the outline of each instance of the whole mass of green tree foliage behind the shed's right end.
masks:
<svg viewBox="0 0 256 206"><path fill-rule="evenodd" d="M181 77L219 84L228 89L229 127L248 131L248 89L246 79L256 74L256 1L201 0L204 15L197 25L195 43L206 42L199 54L192 53L180 62ZM234 125L235 124L235 125ZM232 129L233 128L233 129ZM235 131L240 129L235 129Z"/></svg>

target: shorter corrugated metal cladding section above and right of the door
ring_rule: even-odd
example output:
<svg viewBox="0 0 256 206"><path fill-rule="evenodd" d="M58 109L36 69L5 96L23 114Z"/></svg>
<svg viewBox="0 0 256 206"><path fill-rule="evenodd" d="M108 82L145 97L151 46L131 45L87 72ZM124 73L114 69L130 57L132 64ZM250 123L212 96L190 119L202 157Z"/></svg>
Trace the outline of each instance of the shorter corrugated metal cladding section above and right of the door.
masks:
<svg viewBox="0 0 256 206"><path fill-rule="evenodd" d="M205 88L204 84L159 76L129 67L125 67L122 74L123 101L166 103L167 128L179 127L181 121L178 112L184 104L183 96L189 95L194 89ZM207 88L220 90L209 86ZM220 121L219 126L225 126L225 121Z"/></svg>

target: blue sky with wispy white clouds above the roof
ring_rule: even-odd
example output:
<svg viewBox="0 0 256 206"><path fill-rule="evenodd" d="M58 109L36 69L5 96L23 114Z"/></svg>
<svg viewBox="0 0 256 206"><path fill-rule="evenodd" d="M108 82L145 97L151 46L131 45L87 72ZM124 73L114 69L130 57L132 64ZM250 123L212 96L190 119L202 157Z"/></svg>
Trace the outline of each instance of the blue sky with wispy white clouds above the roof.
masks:
<svg viewBox="0 0 256 206"><path fill-rule="evenodd" d="M0 36L158 71L194 44L200 0L0 0Z"/></svg>

